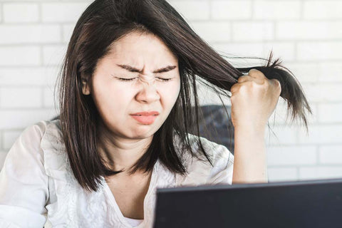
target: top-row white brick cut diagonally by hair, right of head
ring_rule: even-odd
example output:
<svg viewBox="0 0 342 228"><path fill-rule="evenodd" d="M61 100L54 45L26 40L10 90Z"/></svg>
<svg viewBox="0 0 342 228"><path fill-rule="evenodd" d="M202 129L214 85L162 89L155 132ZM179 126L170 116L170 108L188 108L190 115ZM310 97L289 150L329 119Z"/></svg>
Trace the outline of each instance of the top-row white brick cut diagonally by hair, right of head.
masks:
<svg viewBox="0 0 342 228"><path fill-rule="evenodd" d="M180 13L187 21L189 20L206 20L210 17L209 1L170 1L170 4Z"/></svg>

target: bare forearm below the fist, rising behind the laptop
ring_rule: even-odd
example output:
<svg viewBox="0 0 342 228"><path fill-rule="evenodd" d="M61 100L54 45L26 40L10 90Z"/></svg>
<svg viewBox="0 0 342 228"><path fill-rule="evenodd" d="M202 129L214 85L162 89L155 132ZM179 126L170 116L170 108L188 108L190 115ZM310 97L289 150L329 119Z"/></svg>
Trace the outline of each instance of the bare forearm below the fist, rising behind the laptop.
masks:
<svg viewBox="0 0 342 228"><path fill-rule="evenodd" d="M265 128L234 129L233 184L267 182Z"/></svg>

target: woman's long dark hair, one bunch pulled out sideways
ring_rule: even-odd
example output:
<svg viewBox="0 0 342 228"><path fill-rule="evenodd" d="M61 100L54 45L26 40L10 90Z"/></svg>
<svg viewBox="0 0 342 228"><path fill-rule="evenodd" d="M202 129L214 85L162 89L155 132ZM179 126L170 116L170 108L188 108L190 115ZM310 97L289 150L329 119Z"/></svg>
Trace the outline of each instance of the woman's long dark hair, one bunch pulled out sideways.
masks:
<svg viewBox="0 0 342 228"><path fill-rule="evenodd" d="M160 37L177 56L181 89L170 115L130 173L150 171L159 159L170 171L186 175L182 160L183 155L189 153L212 165L199 138L196 81L214 90L219 98L222 95L229 97L229 90L237 83L237 78L256 68L266 78L279 80L281 98L286 100L292 120L299 118L307 130L304 109L311 113L311 108L299 82L281 66L279 59L272 63L270 55L266 66L234 68L197 36L165 0L96 0L83 12L74 28L59 84L61 129L66 152L73 175L86 190L98 190L101 176L115 175L122 170L110 170L98 152L101 143L97 138L99 114L91 96L82 93L82 78L90 83L96 63L108 54L110 44L133 31ZM197 136L197 151L193 151L190 132ZM182 150L175 149L176 137L182 142Z"/></svg>

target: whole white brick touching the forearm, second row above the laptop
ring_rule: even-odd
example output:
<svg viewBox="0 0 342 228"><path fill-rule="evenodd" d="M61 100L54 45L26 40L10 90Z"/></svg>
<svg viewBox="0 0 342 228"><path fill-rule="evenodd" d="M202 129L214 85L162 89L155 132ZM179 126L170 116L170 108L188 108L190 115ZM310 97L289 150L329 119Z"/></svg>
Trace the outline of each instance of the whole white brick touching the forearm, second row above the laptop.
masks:
<svg viewBox="0 0 342 228"><path fill-rule="evenodd" d="M316 146L281 146L267 147L267 163L281 165L315 165L317 162Z"/></svg>

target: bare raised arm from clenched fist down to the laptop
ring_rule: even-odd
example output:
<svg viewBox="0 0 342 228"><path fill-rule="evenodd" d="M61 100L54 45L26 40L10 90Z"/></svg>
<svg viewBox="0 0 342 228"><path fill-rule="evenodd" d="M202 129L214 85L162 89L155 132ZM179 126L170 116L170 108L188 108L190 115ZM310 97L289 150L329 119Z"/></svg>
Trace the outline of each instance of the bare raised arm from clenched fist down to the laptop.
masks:
<svg viewBox="0 0 342 228"><path fill-rule="evenodd" d="M279 100L280 83L252 69L238 78L231 92L235 147L232 182L267 182L264 133Z"/></svg>

